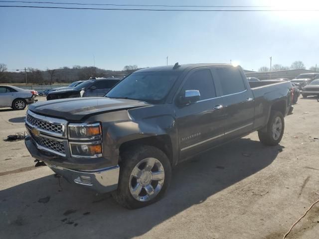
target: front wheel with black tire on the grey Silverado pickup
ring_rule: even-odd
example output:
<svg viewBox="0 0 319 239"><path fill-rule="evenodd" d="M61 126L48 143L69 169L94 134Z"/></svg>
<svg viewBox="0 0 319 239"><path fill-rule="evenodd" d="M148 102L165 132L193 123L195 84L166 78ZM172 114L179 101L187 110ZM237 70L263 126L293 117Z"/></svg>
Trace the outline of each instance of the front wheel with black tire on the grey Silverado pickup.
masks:
<svg viewBox="0 0 319 239"><path fill-rule="evenodd" d="M141 145L121 154L120 177L114 199L123 207L137 209L160 200L170 183L171 166L160 149Z"/></svg>

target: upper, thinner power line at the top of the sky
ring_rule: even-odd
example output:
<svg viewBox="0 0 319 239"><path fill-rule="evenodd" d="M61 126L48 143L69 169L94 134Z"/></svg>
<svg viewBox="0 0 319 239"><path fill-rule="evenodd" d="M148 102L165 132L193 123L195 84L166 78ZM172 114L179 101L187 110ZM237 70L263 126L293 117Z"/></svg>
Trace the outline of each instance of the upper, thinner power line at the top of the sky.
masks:
<svg viewBox="0 0 319 239"><path fill-rule="evenodd" d="M54 1L3 1L0 2L18 2L18 3L45 3L45 4L69 4L69 5L98 5L98 6L161 6L161 7L272 7L272 6L243 6L243 5L149 5L149 4L107 4L107 3L79 3L79 2L54 2Z"/></svg>

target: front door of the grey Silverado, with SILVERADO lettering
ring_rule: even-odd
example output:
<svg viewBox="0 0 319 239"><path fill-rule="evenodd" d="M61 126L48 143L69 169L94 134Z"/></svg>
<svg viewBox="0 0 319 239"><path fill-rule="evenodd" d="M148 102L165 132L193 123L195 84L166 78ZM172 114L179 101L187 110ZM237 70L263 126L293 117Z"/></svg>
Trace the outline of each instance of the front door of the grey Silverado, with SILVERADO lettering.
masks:
<svg viewBox="0 0 319 239"><path fill-rule="evenodd" d="M176 103L186 90L198 90L200 100L188 105ZM175 104L181 159L217 145L224 135L223 106L209 68L196 68L187 74Z"/></svg>

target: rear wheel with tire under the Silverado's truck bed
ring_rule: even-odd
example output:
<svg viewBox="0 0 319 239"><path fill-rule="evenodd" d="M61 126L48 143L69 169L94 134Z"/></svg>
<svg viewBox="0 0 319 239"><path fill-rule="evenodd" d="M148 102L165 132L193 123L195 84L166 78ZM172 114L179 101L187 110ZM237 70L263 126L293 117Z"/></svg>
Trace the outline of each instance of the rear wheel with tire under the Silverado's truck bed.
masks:
<svg viewBox="0 0 319 239"><path fill-rule="evenodd" d="M258 131L259 140L265 145L277 145L283 137L284 129L285 119L283 114L279 111L271 111L267 131Z"/></svg>

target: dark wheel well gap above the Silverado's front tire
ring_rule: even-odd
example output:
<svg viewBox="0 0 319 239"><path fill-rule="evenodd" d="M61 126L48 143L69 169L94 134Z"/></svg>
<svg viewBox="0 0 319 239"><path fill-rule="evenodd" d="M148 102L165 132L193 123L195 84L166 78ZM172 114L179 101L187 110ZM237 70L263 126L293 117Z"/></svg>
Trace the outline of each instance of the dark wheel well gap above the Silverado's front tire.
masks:
<svg viewBox="0 0 319 239"><path fill-rule="evenodd" d="M136 145L150 145L159 148L163 151L167 158L169 159L170 164L173 163L173 151L171 141L168 135L157 135L157 136L150 136L140 139L135 139L131 141L127 141L121 144L119 151L121 153L129 147L133 147Z"/></svg>

